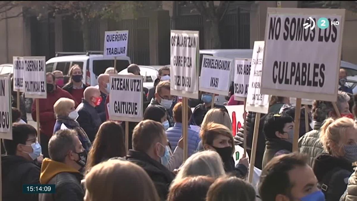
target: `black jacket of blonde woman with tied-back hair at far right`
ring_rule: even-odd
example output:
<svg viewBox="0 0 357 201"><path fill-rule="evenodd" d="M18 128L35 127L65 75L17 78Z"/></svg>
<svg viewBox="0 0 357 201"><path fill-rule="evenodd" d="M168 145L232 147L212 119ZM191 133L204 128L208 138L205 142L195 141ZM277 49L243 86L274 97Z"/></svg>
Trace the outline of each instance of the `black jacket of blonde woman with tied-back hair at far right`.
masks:
<svg viewBox="0 0 357 201"><path fill-rule="evenodd" d="M326 201L340 200L347 188L348 178L353 172L352 163L344 158L322 153L315 158L312 169L319 185L327 185L327 191L323 190L326 189L325 187L322 187Z"/></svg>

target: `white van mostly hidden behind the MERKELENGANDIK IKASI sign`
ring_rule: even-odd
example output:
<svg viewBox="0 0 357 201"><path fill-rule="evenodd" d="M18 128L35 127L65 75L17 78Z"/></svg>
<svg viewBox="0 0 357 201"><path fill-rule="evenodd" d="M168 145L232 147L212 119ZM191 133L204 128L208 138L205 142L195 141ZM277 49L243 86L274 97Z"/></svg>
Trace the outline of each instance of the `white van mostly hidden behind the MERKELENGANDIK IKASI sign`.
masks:
<svg viewBox="0 0 357 201"><path fill-rule="evenodd" d="M210 55L214 57L222 57L227 59L234 58L252 58L253 50L252 49L216 49L216 50L200 50L200 71L202 66L202 57L203 55ZM234 81L234 73L230 78L230 82ZM227 92L228 93L228 92ZM228 95L228 94L227 94ZM223 105L227 102L224 95L218 95L215 97L215 104Z"/></svg>

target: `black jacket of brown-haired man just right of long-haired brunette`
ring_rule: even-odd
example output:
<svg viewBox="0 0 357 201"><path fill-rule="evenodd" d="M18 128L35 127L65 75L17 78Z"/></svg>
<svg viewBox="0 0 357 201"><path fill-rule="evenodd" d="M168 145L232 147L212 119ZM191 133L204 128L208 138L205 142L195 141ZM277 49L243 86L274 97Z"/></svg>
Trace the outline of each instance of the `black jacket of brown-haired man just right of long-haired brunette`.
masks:
<svg viewBox="0 0 357 201"><path fill-rule="evenodd" d="M142 167L154 182L160 199L166 200L169 192L169 186L175 177L174 174L165 166L161 165L160 162L153 160L143 152L130 149L126 156L126 160Z"/></svg>

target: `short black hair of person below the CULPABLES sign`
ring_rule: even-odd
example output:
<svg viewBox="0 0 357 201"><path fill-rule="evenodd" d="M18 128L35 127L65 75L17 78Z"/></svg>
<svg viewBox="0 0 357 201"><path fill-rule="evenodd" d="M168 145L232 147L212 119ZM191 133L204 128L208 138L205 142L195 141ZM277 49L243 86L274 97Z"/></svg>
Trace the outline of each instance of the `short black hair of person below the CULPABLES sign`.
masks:
<svg viewBox="0 0 357 201"><path fill-rule="evenodd" d="M274 114L269 113L264 121L263 131L266 139L278 138L275 134L276 131L283 133L283 128L286 123L293 122L293 118L286 113Z"/></svg>

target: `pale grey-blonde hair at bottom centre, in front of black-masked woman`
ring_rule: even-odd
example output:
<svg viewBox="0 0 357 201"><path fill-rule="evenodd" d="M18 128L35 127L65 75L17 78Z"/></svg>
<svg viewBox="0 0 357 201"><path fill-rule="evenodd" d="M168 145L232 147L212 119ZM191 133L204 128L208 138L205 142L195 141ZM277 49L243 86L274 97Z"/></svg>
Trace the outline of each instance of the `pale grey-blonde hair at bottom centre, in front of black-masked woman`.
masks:
<svg viewBox="0 0 357 201"><path fill-rule="evenodd" d="M221 156L215 151L202 151L193 154L183 163L171 186L188 176L209 176L216 179L225 174Z"/></svg>

